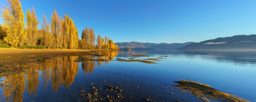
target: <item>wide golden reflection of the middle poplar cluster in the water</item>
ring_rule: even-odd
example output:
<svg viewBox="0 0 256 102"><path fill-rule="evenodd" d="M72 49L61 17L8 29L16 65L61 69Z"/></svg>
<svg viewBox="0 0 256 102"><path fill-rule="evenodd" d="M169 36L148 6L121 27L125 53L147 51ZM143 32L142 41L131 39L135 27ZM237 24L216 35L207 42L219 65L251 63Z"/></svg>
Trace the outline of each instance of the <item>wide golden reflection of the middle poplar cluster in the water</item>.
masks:
<svg viewBox="0 0 256 102"><path fill-rule="evenodd" d="M54 92L65 83L65 87L74 82L75 75L78 72L78 62L75 62L78 57L56 57L53 59L43 59L40 70L42 71L42 79L44 88L51 77L51 88Z"/></svg>

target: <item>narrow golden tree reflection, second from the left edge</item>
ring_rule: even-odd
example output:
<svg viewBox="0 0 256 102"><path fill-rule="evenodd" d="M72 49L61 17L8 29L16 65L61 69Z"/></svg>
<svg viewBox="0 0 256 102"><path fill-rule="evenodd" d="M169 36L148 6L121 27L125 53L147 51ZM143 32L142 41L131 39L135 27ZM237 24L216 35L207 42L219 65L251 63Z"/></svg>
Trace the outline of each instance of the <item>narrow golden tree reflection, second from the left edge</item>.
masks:
<svg viewBox="0 0 256 102"><path fill-rule="evenodd" d="M27 91L31 95L31 91L33 92L33 96L36 96L36 89L38 88L39 82L39 72L37 71L38 65L36 63L31 63L27 65Z"/></svg>

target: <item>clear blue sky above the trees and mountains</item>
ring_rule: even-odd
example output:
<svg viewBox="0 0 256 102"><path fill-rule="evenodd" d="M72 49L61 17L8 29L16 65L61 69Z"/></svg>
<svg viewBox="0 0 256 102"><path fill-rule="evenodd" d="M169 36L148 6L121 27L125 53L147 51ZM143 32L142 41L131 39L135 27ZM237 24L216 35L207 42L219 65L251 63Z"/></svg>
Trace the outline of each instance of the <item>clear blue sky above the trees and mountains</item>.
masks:
<svg viewBox="0 0 256 102"><path fill-rule="evenodd" d="M8 5L0 0L0 6ZM114 42L200 42L256 34L256 0L21 0L48 22L54 9L68 14L81 32L85 26ZM0 24L3 20L0 20Z"/></svg>

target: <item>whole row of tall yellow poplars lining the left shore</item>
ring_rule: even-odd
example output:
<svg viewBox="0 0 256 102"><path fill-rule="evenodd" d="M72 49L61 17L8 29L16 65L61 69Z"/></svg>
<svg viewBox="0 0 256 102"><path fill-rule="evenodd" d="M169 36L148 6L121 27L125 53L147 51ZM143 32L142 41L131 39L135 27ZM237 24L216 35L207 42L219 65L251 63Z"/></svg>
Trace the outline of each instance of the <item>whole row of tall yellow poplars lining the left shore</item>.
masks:
<svg viewBox="0 0 256 102"><path fill-rule="evenodd" d="M28 45L42 45L47 48L83 48L83 49L118 49L117 45L108 37L101 38L93 33L93 28L85 27L82 31L82 39L78 39L78 29L75 28L74 21L65 15L64 19L57 14L51 14L51 21L47 22L45 14L41 30L38 29L39 20L37 20L36 11L32 7L27 10L27 24L24 28L24 14L21 10L20 0L6 0L9 7L4 6L2 9L4 30L3 41L17 47ZM97 45L95 45L95 41Z"/></svg>

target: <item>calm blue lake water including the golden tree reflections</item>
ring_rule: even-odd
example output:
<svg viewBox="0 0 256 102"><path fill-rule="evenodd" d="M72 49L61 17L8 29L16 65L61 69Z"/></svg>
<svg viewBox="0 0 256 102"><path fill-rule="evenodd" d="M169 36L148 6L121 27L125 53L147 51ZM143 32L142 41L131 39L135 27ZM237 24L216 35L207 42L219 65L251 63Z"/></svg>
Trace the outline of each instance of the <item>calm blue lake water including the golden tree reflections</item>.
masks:
<svg viewBox="0 0 256 102"><path fill-rule="evenodd" d="M172 86L177 85L174 81L185 79L256 102L256 51L138 50L93 54L104 56L41 59L39 63L27 65L27 69L20 73L7 74L1 77L0 100L87 102L90 94L92 101L97 99L99 102L109 99L117 102L147 102L146 99L151 102L201 101ZM80 57L90 60L78 60ZM116 58L164 59L150 60L157 63L151 64L120 62ZM111 91L106 87L108 85L118 88Z"/></svg>

